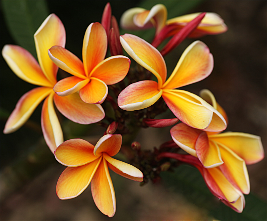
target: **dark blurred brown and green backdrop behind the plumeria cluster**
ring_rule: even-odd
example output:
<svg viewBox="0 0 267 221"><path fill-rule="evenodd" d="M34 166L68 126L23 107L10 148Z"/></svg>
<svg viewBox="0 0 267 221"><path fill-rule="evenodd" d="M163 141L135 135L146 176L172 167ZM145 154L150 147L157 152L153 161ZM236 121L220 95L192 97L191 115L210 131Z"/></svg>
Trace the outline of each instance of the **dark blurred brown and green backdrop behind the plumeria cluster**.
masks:
<svg viewBox="0 0 267 221"><path fill-rule="evenodd" d="M108 1L35 1L36 4L30 6L28 1L19 1L19 4L16 1L8 2L0 3L1 49L4 44L20 44L31 53L36 53L33 34L47 15L55 13L66 29L66 48L81 58L85 30L90 23L101 22ZM13 12L8 10L10 2L16 4ZM196 94L203 88L211 90L228 115L227 130L261 136L266 156L266 1L109 2L112 14L118 21L126 9L150 9L158 3L166 5L168 18L194 12L219 14L225 20L228 31L200 39L214 56L214 70L205 80L183 89ZM44 11L43 15L36 15L38 7L47 7L41 10ZM31 13L27 12L29 9ZM18 42L10 22L14 13L22 12L41 19L36 19L31 27L18 26L17 30L29 29L23 32L26 40ZM154 31L144 30L135 34L151 42ZM121 34L124 33L133 32L121 30ZM182 52L193 41L186 39L165 56L169 74ZM242 214L233 212L209 193L201 175L189 166L164 172L161 182L149 182L142 187L138 182L111 172L117 201L117 212L112 218L97 209L90 187L77 198L59 200L55 186L65 167L54 159L42 138L41 105L18 131L8 135L2 132L19 98L35 86L12 73L2 56L0 62L1 220L266 220L266 157L248 166L251 194L245 196L246 207ZM61 70L58 74L64 75ZM64 125L65 140L84 138L95 144L104 132L104 128L97 125L78 125L61 115L59 117ZM159 147L171 140L170 128L142 129L135 140L144 149Z"/></svg>

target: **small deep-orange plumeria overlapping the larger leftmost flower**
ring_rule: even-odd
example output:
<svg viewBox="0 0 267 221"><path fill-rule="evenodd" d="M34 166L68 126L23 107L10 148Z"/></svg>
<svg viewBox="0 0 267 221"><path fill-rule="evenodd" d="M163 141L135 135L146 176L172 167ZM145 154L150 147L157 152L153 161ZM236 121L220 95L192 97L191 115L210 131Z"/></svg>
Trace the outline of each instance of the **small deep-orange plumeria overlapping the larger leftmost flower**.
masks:
<svg viewBox="0 0 267 221"><path fill-rule="evenodd" d="M115 84L126 76L130 59L123 55L105 58L107 34L104 27L91 23L85 31L82 45L82 61L62 46L48 50L51 60L73 76L60 80L54 86L59 96L67 96L79 91L82 101L101 104L108 94L107 85Z"/></svg>

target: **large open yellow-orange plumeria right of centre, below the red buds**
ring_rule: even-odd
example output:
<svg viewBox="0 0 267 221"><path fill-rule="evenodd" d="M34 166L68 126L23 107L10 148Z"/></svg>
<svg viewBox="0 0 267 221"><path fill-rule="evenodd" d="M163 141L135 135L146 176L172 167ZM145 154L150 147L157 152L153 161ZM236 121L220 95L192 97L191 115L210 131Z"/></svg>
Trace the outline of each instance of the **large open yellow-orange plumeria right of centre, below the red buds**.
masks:
<svg viewBox="0 0 267 221"><path fill-rule="evenodd" d="M190 127L205 129L209 126L209 131L226 128L226 121L220 112L202 98L185 90L174 90L209 76L213 69L213 57L206 44L200 41L190 44L166 80L165 61L155 47L131 34L120 36L120 41L125 51L158 79L158 82L144 80L126 87L118 96L121 109L144 109L162 96L174 115Z"/></svg>

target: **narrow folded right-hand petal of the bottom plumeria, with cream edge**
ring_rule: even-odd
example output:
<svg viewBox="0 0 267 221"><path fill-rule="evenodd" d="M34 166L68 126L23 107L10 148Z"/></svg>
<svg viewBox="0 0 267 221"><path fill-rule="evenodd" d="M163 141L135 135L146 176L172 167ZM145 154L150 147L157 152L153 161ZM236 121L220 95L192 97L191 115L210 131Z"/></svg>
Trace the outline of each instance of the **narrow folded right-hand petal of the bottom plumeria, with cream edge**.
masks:
<svg viewBox="0 0 267 221"><path fill-rule="evenodd" d="M109 168L112 169L115 173L138 182L143 181L144 175L136 167L128 163L124 163L120 160L116 160L106 153L103 153L103 157L107 160Z"/></svg>

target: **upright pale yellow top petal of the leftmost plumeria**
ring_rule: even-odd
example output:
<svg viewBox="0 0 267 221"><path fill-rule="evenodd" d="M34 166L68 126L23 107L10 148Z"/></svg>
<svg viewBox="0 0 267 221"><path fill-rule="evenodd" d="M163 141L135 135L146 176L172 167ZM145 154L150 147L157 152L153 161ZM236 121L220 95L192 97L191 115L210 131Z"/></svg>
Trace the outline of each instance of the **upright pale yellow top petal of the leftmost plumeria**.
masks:
<svg viewBox="0 0 267 221"><path fill-rule="evenodd" d="M66 32L55 14L49 15L34 34L37 57L47 79L55 85L58 66L48 56L47 50L54 45L65 47Z"/></svg>

